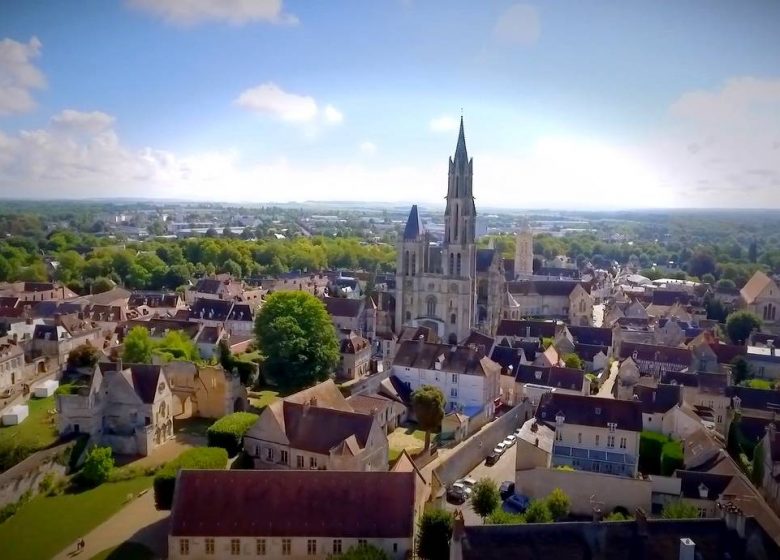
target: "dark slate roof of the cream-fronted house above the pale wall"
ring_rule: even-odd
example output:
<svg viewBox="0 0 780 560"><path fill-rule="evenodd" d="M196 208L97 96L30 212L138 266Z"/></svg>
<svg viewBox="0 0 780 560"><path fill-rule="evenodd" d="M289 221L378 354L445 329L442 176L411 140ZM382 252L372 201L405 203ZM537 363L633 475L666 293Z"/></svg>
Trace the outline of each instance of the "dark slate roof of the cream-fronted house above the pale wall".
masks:
<svg viewBox="0 0 780 560"><path fill-rule="evenodd" d="M536 418L555 425L555 417L563 413L564 423L607 428L615 423L619 430L642 431L642 407L638 402L600 397L546 393L536 409Z"/></svg>

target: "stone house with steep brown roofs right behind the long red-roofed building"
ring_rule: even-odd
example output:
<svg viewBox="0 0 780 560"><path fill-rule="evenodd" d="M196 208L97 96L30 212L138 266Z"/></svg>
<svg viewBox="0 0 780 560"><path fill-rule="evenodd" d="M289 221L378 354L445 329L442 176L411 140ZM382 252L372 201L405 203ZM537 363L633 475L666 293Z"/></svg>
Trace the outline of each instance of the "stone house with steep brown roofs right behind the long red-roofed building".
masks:
<svg viewBox="0 0 780 560"><path fill-rule="evenodd" d="M268 405L244 437L257 469L387 470L387 436L332 380Z"/></svg>

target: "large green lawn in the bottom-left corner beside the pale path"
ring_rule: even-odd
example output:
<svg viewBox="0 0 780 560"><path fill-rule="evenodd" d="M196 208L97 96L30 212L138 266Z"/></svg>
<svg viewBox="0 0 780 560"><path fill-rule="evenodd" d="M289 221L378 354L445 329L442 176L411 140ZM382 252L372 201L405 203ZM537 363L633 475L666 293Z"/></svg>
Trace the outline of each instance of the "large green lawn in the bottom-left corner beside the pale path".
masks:
<svg viewBox="0 0 780 560"><path fill-rule="evenodd" d="M151 485L146 476L79 494L37 496L0 524L0 558L51 558L122 509L128 494Z"/></svg>

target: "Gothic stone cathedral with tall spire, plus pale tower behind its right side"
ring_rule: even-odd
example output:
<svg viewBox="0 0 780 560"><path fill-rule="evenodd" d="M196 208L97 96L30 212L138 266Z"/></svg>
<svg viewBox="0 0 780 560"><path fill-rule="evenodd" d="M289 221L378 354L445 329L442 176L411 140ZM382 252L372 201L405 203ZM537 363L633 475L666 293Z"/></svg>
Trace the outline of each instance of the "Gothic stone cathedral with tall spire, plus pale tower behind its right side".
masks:
<svg viewBox="0 0 780 560"><path fill-rule="evenodd" d="M502 259L493 248L477 248L473 178L474 160L466 150L461 117L455 155L449 160L444 238L435 240L426 231L414 205L399 242L399 329L425 326L450 344L464 341L472 330L493 334L502 312L514 303L507 281L533 274L533 237L527 225L517 235L514 260Z"/></svg>

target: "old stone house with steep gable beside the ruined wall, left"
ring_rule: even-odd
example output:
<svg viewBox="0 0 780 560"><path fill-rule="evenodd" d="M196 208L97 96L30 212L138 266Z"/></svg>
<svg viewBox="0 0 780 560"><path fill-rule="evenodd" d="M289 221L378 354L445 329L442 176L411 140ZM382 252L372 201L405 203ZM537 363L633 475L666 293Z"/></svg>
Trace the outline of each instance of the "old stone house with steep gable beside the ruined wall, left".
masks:
<svg viewBox="0 0 780 560"><path fill-rule="evenodd" d="M86 433L115 453L148 455L173 437L171 389L160 366L101 363L57 394L61 435Z"/></svg>

